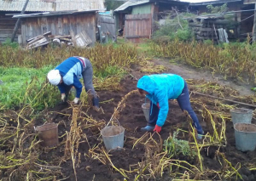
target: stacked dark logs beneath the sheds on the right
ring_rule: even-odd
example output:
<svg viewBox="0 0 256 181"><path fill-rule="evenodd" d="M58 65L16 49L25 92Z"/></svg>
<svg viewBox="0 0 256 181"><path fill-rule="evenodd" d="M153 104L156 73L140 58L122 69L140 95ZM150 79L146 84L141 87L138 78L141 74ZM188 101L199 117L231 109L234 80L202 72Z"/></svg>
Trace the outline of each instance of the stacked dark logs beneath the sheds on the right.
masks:
<svg viewBox="0 0 256 181"><path fill-rule="evenodd" d="M225 29L229 20L224 17L197 17L189 20L189 28L195 35L195 40L213 40L218 42L218 29Z"/></svg>

